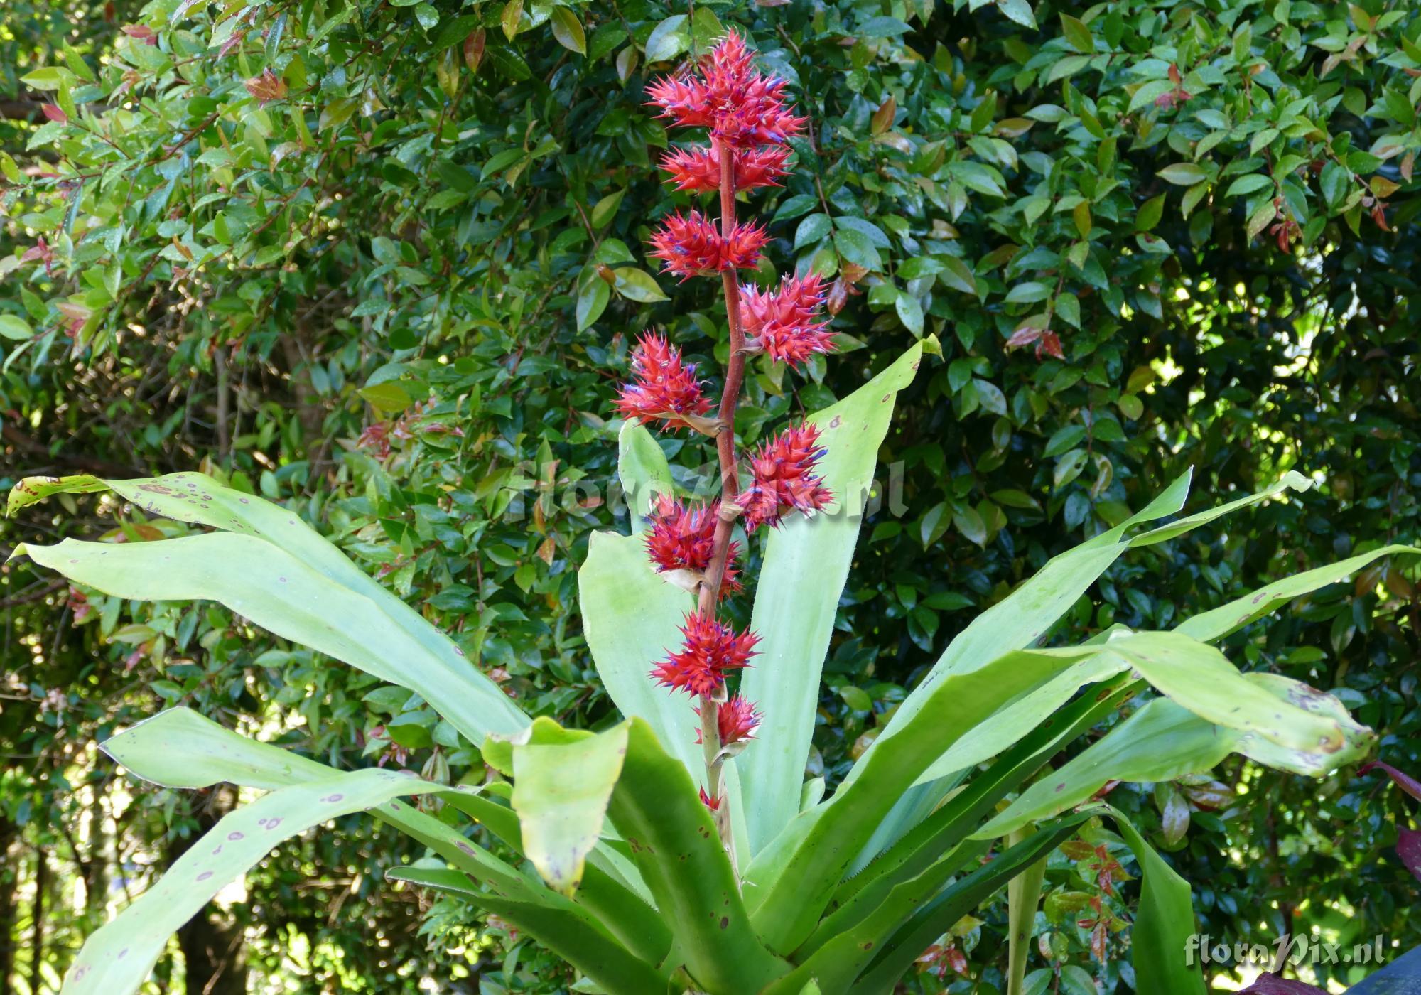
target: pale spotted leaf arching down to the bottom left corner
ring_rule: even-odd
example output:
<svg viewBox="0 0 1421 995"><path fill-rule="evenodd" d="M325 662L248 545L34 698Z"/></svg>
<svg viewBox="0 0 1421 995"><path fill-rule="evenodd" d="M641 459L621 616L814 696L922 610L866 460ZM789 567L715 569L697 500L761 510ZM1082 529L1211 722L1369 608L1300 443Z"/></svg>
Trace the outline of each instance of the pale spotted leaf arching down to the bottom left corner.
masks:
<svg viewBox="0 0 1421 995"><path fill-rule="evenodd" d="M63 995L138 991L168 937L283 840L337 816L388 805L401 795L446 790L445 785L394 770L355 770L283 787L223 816L158 884L85 941Z"/></svg>

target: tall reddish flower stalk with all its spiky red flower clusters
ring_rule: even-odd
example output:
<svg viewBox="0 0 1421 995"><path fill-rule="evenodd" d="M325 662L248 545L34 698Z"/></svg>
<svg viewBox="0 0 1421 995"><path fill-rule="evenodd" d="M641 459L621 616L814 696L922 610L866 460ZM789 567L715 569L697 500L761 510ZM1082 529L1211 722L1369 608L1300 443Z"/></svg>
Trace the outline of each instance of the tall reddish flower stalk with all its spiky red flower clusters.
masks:
<svg viewBox="0 0 1421 995"><path fill-rule="evenodd" d="M774 361L797 365L816 353L827 353L831 334L826 330L827 323L816 318L824 298L817 276L786 280L770 294L749 287L742 291L736 279L736 270L756 266L769 236L757 225L736 220L735 195L737 190L779 186L776 181L786 173L790 156L786 139L800 132L807 119L796 117L787 107L782 80L755 68L753 53L735 31L701 61L698 70L696 75L659 80L647 92L672 124L709 132L709 146L676 149L662 159L662 168L671 173L678 190L719 192L719 230L698 210L672 215L652 236L651 254L682 280L720 276L730 331L730 360L720 404L715 419L705 418L708 408L699 408L699 384L695 384L693 395L689 388L693 371L684 371L679 353L669 350L665 340L654 340L651 345L661 350L658 357L664 358L661 365L665 374L659 381L648 378L645 370L651 364L642 358L635 365L638 380L622 391L618 407L644 422L661 419L674 426L685 421L715 435L720 500L703 507L659 502L654 509L647 547L658 570L681 573L678 581L688 580L689 574L698 584L696 610L686 617L682 628L682 648L668 652L652 677L698 698L698 735L706 766L701 797L715 817L733 864L730 806L720 790L720 765L733 752L726 746L750 739L760 716L752 702L730 696L726 689L726 675L749 665L757 640L753 633L736 633L715 615L716 603L739 590L730 567L736 553L730 532L742 513L747 516L747 527L753 529L762 522L777 523L791 510L823 507L828 500L828 492L810 472L821 451L816 448L817 431L807 426L790 429L762 448L753 463L755 483L742 499L735 412L747 355L766 353ZM746 294L745 301L742 293ZM746 320L753 326L753 343L746 337ZM652 351L651 345L642 338L645 351L639 350L638 355L645 357ZM672 401L681 407L674 407ZM668 418L662 414L666 411L676 415ZM686 419L686 414L703 425ZM776 461L782 459L789 462L780 466ZM755 502L757 510L753 516L746 510L746 500Z"/></svg>

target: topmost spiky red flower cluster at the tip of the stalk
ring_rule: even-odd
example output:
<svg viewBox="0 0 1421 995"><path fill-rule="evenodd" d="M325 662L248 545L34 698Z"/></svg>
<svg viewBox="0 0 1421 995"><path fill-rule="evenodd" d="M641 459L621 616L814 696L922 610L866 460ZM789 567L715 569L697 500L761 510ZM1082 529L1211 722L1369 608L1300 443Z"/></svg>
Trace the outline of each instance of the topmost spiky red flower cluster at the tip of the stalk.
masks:
<svg viewBox="0 0 1421 995"><path fill-rule="evenodd" d="M710 136L735 148L782 145L804 129L784 107L784 81L760 74L736 31L725 36L701 61L699 77L658 80L647 88L661 117L682 128L709 128Z"/></svg>

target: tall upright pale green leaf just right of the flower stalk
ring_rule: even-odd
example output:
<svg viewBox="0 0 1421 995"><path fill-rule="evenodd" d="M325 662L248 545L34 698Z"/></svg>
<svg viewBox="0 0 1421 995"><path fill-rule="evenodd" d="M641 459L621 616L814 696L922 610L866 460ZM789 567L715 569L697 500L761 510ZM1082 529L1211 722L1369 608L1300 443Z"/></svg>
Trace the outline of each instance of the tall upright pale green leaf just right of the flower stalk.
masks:
<svg viewBox="0 0 1421 995"><path fill-rule="evenodd" d="M737 758L752 853L799 812L800 785L814 732L820 675L838 598L848 579L878 446L898 391L922 358L914 345L885 371L809 421L821 431L820 473L834 503L770 532L756 584L750 627L760 634L755 667L740 691L762 711L756 738ZM679 705L689 714L685 705ZM674 742L674 741L672 741Z"/></svg>

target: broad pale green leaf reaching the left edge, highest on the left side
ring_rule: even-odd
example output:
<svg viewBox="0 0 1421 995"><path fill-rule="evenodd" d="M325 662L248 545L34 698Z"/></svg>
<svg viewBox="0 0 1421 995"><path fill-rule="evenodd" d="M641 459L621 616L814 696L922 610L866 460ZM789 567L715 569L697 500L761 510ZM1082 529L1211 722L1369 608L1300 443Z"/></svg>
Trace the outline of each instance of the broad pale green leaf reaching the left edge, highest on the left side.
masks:
<svg viewBox="0 0 1421 995"><path fill-rule="evenodd" d="M529 719L419 613L382 588L294 513L200 473L144 480L38 478L10 509L64 490L115 493L153 515L223 532L152 543L24 546L34 561L105 594L220 601L263 628L399 684L476 745Z"/></svg>

